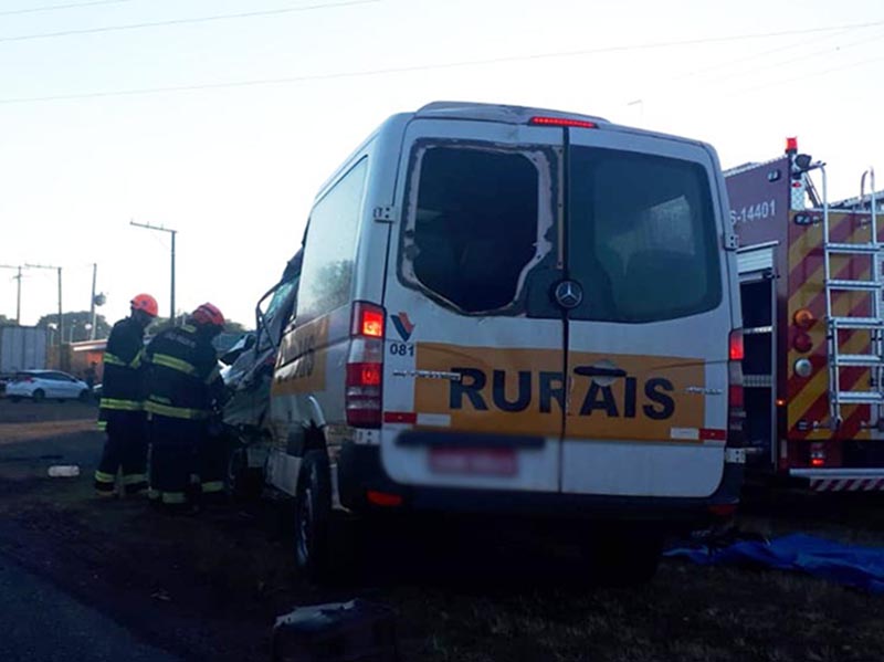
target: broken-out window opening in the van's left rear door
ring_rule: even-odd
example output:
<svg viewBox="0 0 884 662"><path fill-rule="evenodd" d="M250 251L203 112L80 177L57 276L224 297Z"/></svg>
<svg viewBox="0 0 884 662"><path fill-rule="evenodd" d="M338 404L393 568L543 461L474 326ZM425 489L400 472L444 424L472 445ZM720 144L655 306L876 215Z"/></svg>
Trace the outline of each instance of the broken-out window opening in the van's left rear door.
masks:
<svg viewBox="0 0 884 662"><path fill-rule="evenodd" d="M534 162L539 158L539 153L487 146L419 150L404 234L404 280L465 313L512 304L543 243Z"/></svg>

